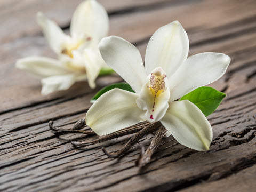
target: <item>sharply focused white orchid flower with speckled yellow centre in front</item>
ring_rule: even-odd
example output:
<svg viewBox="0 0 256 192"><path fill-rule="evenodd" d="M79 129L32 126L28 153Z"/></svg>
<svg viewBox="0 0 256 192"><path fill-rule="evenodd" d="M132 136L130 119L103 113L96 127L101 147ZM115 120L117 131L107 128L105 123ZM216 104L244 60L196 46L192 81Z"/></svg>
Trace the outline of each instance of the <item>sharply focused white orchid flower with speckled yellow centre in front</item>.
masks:
<svg viewBox="0 0 256 192"><path fill-rule="evenodd" d="M189 41L178 21L159 28L150 38L145 68L139 50L116 36L99 44L102 58L135 93L113 89L95 101L86 114L86 124L105 135L142 121L160 121L182 145L209 150L210 123L188 100L175 101L197 87L210 84L226 71L230 58L206 52L189 58Z"/></svg>

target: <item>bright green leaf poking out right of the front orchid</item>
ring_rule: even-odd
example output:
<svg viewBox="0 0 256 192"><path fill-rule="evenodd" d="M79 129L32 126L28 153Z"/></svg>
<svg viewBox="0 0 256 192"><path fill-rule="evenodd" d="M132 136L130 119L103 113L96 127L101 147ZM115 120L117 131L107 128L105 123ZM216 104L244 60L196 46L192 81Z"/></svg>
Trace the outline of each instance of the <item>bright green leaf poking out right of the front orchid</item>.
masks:
<svg viewBox="0 0 256 192"><path fill-rule="evenodd" d="M199 87L184 95L180 101L187 99L190 102L193 102L207 117L217 109L222 99L225 97L225 93L215 90L212 87Z"/></svg>

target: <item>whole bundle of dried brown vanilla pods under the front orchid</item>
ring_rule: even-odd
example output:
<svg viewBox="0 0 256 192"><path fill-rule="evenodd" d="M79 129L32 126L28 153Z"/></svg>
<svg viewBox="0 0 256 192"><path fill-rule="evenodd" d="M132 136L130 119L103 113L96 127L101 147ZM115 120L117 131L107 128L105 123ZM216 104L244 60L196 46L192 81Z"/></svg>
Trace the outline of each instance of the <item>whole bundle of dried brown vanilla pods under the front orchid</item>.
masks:
<svg viewBox="0 0 256 192"><path fill-rule="evenodd" d="M86 125L85 118L80 119L76 124L69 130L59 129L56 126L53 126L53 121L49 122L50 129L54 132L54 134L59 137L63 134L69 133L78 133L78 134L86 134L93 135L94 131L90 130L90 127ZM81 130L84 128L85 130ZM76 142L71 141L74 147L86 147L89 145L94 145L97 143L101 143L110 139L122 137L124 135L134 134L132 138L126 143L126 145L117 151L116 153L109 153L105 147L102 147L103 152L110 158L118 158L120 156L125 155L141 138L145 137L149 133L154 132L154 137L151 140L150 146L145 151L145 148L141 146L141 153L135 162L138 167L145 166L150 162L151 156L153 155L156 148L159 146L161 139L166 134L167 130L160 122L149 123L148 121L138 123L136 125L126 127L125 129L116 131L114 133L104 135L102 137L98 137L95 140L87 141L87 142Z"/></svg>

